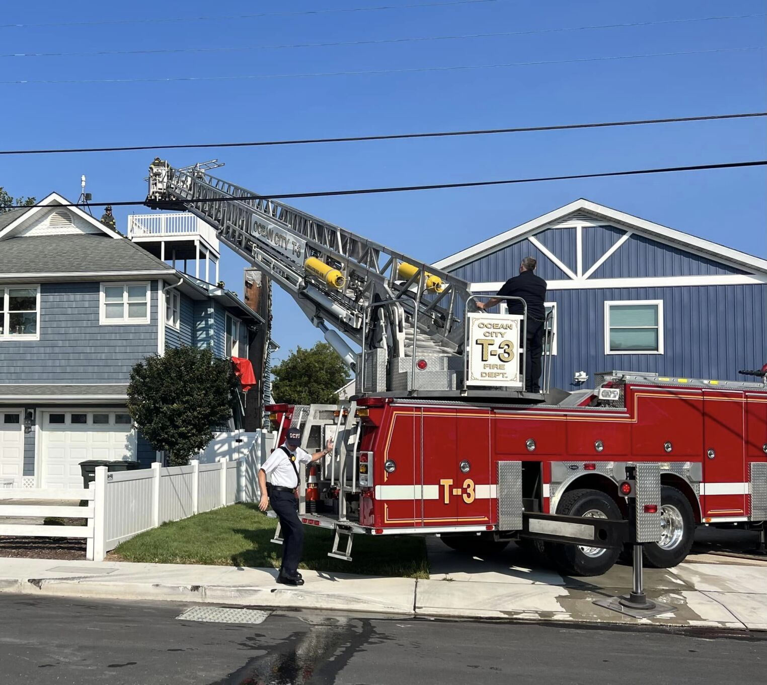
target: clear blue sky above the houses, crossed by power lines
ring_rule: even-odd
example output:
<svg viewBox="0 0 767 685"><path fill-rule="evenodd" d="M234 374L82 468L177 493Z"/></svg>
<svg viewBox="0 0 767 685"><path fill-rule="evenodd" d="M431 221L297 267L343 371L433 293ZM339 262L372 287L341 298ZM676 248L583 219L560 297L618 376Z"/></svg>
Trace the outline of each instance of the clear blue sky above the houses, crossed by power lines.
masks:
<svg viewBox="0 0 767 685"><path fill-rule="evenodd" d="M13 3L0 24L244 15L407 5L416 0L321 2ZM426 2L426 0L422 0ZM526 31L765 12L758 0L618 3L496 0L237 20L0 28L0 54L292 45ZM304 74L522 61L558 61L765 45L765 18L537 35L324 48L172 55L0 57L0 81ZM765 109L765 52L632 60L167 83L0 84L0 147L97 147L252 141L685 117ZM752 119L423 141L225 151L160 151L175 166L219 157L219 176L268 194L430 184L752 160L765 154ZM0 158L16 195L56 190L72 200L81 174L94 201L143 199L153 152ZM767 256L765 170L736 169L512 187L296 200L295 205L426 261L435 261L578 197ZM115 212L124 230L129 211ZM222 278L242 293L242 260ZM276 289L275 289L276 290ZM318 332L275 293L280 354Z"/></svg>

